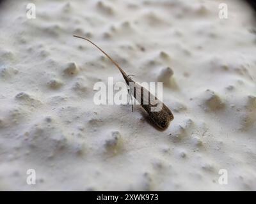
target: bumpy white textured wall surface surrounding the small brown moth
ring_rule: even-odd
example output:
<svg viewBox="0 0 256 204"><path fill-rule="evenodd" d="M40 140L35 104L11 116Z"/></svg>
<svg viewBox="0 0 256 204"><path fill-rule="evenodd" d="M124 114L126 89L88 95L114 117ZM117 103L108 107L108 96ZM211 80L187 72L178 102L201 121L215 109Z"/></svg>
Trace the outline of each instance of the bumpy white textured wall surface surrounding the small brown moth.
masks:
<svg viewBox="0 0 256 204"><path fill-rule="evenodd" d="M224 2L227 20L223 1L2 6L0 189L256 190L255 21L241 1ZM138 107L94 105L93 84L122 75L72 34L134 80L163 81L170 127L157 131Z"/></svg>

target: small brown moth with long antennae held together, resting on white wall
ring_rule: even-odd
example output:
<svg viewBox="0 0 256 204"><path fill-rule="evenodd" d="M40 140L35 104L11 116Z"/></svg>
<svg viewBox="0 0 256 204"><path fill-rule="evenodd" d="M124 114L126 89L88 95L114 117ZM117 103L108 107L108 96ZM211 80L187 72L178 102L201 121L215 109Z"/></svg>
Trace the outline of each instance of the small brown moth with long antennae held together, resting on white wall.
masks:
<svg viewBox="0 0 256 204"><path fill-rule="evenodd" d="M130 89L130 91L132 92L132 95L134 96L134 98L138 102L140 102L140 105L148 113L148 115L149 115L150 119L152 120L152 122L158 128L160 128L162 130L168 128L170 122L173 120L174 117L173 117L173 114L170 111L170 109L166 105L164 105L164 103L162 101L157 99L156 96L151 94L145 87L142 87L138 83L134 82L134 80L132 80L132 78L129 77L129 75L127 75L124 72L124 70L111 57L109 57L109 55L106 54L106 52L104 52L95 43L93 43L92 41L88 40L87 38L83 38L83 37L76 36L76 35L74 35L74 37L81 38L83 40L89 41L90 43L92 43L92 45L97 47L104 55L106 55L106 57L108 57L108 59L111 62L113 62L113 64L115 64L116 68L118 68L119 71L122 73L126 84L127 85L132 84L132 89ZM131 87L131 86L129 85L129 87ZM147 94L144 94L144 93L147 93ZM138 97L136 97L136 96L140 96L140 98L138 99ZM147 103L145 103L145 101ZM161 110L154 111L154 108L156 108L156 105L157 106L160 105L162 107Z"/></svg>

